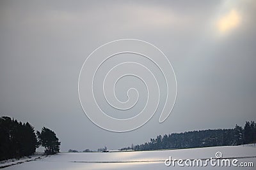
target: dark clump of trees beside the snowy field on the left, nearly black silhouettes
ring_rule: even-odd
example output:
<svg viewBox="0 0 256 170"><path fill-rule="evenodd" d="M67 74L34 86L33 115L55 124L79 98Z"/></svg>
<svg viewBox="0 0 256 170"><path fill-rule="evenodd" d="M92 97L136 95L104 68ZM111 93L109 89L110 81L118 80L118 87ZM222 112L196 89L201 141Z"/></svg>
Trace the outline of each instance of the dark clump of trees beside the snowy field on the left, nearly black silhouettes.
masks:
<svg viewBox="0 0 256 170"><path fill-rule="evenodd" d="M0 160L32 155L39 146L45 147L46 154L60 151L59 139L50 129L43 127L35 133L28 122L22 124L10 117L0 117Z"/></svg>

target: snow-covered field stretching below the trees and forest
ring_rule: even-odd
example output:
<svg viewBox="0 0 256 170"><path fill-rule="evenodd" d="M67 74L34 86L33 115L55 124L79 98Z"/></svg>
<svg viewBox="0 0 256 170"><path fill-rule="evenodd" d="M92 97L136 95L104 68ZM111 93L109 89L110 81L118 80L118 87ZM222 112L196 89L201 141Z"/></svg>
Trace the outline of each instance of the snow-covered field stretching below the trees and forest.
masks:
<svg viewBox="0 0 256 170"><path fill-rule="evenodd" d="M254 167L175 167L165 166L164 160L172 157L173 159L215 159L216 152L221 152L225 159L237 159L237 165L241 162L253 162ZM1 163L4 166L6 163ZM183 162L184 164L184 162ZM256 167L256 147L255 145L241 146L218 146L211 148L191 148L183 150L158 150L145 152L107 152L107 153L58 153L36 159L22 164L17 164L3 169L20 170L43 170L43 169L255 169Z"/></svg>

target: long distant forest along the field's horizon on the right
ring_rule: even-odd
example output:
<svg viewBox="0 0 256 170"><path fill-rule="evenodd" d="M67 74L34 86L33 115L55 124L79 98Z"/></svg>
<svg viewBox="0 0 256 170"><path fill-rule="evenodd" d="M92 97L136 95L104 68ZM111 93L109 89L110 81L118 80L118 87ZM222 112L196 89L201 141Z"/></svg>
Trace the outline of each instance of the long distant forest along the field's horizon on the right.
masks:
<svg viewBox="0 0 256 170"><path fill-rule="evenodd" d="M209 146L230 146L256 143L256 124L246 122L244 128L236 125L234 129L214 129L164 134L150 139L141 145L120 150L161 150L180 148L200 148Z"/></svg>

